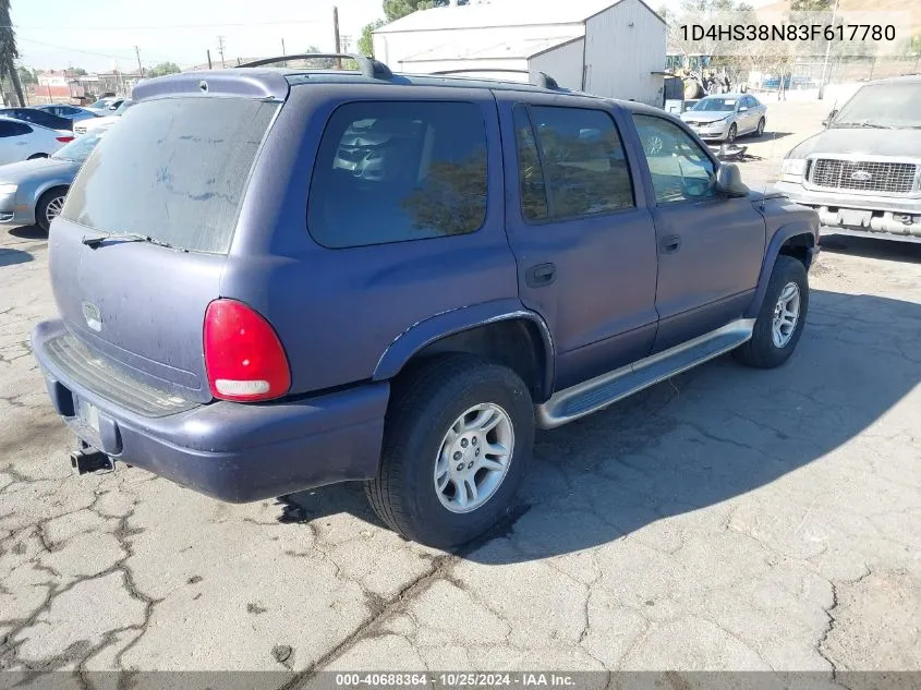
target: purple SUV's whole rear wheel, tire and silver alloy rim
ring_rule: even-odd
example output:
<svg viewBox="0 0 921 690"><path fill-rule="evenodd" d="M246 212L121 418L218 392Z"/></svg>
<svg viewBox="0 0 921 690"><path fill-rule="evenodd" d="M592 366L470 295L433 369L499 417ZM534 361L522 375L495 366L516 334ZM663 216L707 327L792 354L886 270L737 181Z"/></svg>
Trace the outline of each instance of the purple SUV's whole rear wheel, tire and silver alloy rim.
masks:
<svg viewBox="0 0 921 690"><path fill-rule="evenodd" d="M376 479L365 485L390 529L439 548L508 516L534 445L534 408L511 370L435 358L395 386Z"/></svg>

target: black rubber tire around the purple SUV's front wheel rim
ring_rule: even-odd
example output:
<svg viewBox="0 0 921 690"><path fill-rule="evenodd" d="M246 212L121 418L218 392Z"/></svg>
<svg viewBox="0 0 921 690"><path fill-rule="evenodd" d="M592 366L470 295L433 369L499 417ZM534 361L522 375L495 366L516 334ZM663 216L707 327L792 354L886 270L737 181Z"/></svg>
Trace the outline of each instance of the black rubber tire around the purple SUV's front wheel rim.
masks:
<svg viewBox="0 0 921 690"><path fill-rule="evenodd" d="M799 289L799 317L790 339L783 347L778 347L774 342L773 335L774 308L780 299L781 291L791 282L796 283ZM758 368L780 366L796 350L803 326L805 326L808 313L809 276L805 267L792 256L778 256L767 282L764 302L762 302L761 311L758 314L752 338L735 350L736 359L742 364Z"/></svg>

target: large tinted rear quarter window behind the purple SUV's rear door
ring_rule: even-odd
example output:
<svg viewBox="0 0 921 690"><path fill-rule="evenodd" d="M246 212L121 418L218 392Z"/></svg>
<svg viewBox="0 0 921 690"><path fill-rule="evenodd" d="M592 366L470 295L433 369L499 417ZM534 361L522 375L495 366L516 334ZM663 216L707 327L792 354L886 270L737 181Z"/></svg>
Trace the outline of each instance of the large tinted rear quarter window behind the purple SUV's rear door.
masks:
<svg viewBox="0 0 921 690"><path fill-rule="evenodd" d="M346 104L319 143L307 229L334 249L465 234L483 225L486 195L475 104Z"/></svg>

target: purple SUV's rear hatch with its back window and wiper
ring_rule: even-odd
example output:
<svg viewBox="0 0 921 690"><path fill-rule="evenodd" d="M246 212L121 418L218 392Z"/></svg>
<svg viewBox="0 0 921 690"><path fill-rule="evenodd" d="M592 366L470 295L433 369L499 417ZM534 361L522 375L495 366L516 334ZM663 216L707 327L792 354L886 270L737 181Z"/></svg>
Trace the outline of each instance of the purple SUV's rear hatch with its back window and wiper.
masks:
<svg viewBox="0 0 921 690"><path fill-rule="evenodd" d="M278 75L155 80L84 164L52 226L49 264L68 329L106 365L211 399L204 316L284 94Z"/></svg>

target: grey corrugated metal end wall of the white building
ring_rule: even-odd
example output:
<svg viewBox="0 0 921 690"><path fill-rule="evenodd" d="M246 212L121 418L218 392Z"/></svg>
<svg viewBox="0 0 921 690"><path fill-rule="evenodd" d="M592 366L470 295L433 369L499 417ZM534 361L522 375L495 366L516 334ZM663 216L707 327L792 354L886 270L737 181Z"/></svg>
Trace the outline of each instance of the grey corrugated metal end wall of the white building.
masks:
<svg viewBox="0 0 921 690"><path fill-rule="evenodd" d="M640 0L622 0L585 27L585 90L662 107L666 26Z"/></svg>

